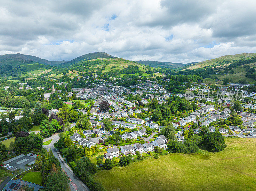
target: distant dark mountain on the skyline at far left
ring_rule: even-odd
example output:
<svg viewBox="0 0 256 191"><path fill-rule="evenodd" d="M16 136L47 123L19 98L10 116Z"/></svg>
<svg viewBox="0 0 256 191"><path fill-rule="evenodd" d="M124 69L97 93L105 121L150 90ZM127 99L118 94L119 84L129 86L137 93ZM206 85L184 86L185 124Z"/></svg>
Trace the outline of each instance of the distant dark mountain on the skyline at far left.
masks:
<svg viewBox="0 0 256 191"><path fill-rule="evenodd" d="M49 61L45 59L41 59L36 56L31 56L31 55L22 55L20 53L18 54L6 54L0 56L0 63L1 64L12 64L12 65L26 65L28 63L39 63L39 64L46 64L46 65L57 65L63 62L67 61Z"/></svg>

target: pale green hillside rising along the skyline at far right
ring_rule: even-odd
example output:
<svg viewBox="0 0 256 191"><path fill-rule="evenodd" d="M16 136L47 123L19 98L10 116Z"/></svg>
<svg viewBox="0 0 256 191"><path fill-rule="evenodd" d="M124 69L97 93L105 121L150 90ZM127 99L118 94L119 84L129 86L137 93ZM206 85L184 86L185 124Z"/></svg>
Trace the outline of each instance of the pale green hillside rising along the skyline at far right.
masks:
<svg viewBox="0 0 256 191"><path fill-rule="evenodd" d="M236 60L241 60L244 58L251 58L253 56L256 56L256 53L242 53L242 54L237 54L237 55L225 55L225 56L221 56L219 58L214 58L211 60L206 60L203 62L191 64L191 65L187 66L186 69L193 70L193 69L198 69L198 68L220 67L222 65L226 66Z"/></svg>

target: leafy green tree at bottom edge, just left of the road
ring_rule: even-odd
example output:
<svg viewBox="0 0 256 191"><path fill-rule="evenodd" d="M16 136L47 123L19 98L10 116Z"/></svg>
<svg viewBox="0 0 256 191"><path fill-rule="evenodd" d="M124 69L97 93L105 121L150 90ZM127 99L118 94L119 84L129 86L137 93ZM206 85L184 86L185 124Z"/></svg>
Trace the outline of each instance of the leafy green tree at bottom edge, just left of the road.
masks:
<svg viewBox="0 0 256 191"><path fill-rule="evenodd" d="M52 172L45 182L45 191L66 191L68 190L68 177L62 171Z"/></svg>

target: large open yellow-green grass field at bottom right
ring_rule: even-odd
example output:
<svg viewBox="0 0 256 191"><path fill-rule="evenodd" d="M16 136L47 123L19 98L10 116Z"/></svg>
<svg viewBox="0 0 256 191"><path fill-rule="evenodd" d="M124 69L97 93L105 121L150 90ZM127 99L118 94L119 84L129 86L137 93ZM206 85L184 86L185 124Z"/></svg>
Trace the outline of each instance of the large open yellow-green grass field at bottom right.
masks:
<svg viewBox="0 0 256 191"><path fill-rule="evenodd" d="M107 190L255 190L256 139L226 138L218 153L173 153L94 175ZM111 180L111 181L109 181Z"/></svg>

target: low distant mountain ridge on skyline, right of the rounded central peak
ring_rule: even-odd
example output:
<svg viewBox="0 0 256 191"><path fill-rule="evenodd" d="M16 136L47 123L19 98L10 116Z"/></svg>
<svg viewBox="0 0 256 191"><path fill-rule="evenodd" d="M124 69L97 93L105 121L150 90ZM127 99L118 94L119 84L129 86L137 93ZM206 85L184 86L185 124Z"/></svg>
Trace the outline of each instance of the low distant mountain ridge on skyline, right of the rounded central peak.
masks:
<svg viewBox="0 0 256 191"><path fill-rule="evenodd" d="M150 60L139 60L136 61L140 64L151 66L151 67L156 67L156 68L170 68L170 69L175 69L175 68L180 68L183 66L188 66L190 64L194 64L197 62L191 62L188 64L183 64L183 63L173 63L173 62L159 62L159 61L150 61Z"/></svg>

